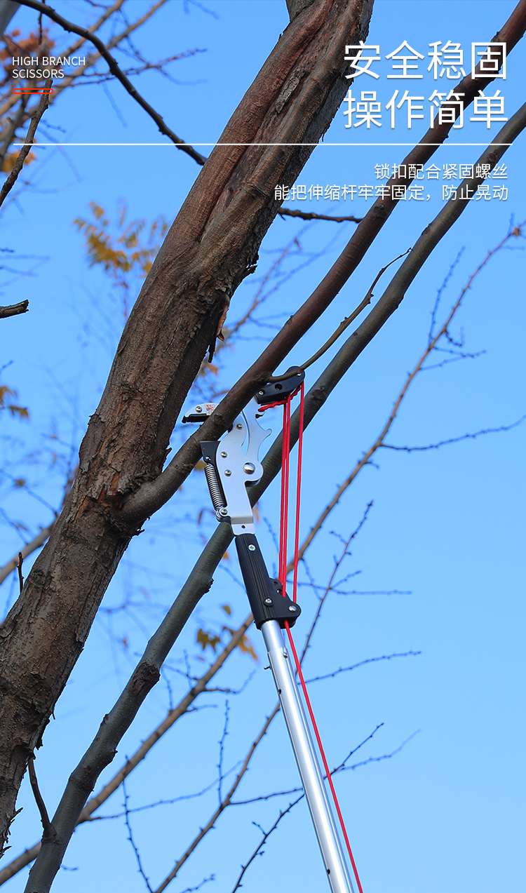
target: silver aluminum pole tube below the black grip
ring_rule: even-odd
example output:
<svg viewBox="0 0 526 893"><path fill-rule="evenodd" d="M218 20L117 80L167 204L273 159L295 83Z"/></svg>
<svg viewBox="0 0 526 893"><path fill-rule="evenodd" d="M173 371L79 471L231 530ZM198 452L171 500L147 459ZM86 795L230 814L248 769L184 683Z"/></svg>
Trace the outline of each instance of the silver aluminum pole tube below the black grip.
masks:
<svg viewBox="0 0 526 893"><path fill-rule="evenodd" d="M354 893L280 624L266 621L261 631L330 888L333 893Z"/></svg>

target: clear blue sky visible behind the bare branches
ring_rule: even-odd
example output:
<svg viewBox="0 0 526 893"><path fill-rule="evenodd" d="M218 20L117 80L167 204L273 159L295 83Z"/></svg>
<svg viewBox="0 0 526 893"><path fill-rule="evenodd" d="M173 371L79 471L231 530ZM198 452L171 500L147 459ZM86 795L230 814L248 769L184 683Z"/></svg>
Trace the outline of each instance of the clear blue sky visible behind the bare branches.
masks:
<svg viewBox="0 0 526 893"><path fill-rule="evenodd" d="M64 0L55 5L71 19L86 15L84 4L78 2ZM356 89L376 88L385 106L395 89L387 79L390 68L385 56L404 40L424 55L434 41L458 41L469 55L466 48L472 41L491 37L513 5L507 0L377 0L368 40L380 45L380 79L377 86L363 87L356 80ZM135 0L133 6L134 11L147 8L142 0ZM230 113L288 21L281 0L215 0L206 6L215 14L193 4L185 12L185 4L171 0L138 36L138 45L150 58L162 59L190 48L205 50L173 64L171 71L180 84L174 85L156 72L146 72L138 80L142 93L171 128L194 145L213 143L221 136ZM33 13L21 11L15 21L25 29L34 27L35 18ZM501 89L508 117L523 102L524 64L524 46L520 44L510 54L507 78L489 91L493 94L494 89ZM427 68L427 63L424 65ZM435 85L427 72L422 83L427 108L427 97ZM455 84L455 80L450 83ZM420 87L413 92L420 95ZM406 150L404 146L372 143L413 145L427 129L428 121L426 113L424 121L413 122L411 131L397 121L392 131L388 113L384 111L384 115L381 140L373 129L366 131L363 127L353 128L351 139L340 109L324 145L313 152L298 183L306 188L317 184L323 188L376 186L380 181L375 165L399 163ZM25 427L19 421L3 420L4 467L13 476L23 474L40 499L58 505L63 482L60 472L50 472L38 456L38 461L23 461L23 457L49 447L52 430L66 445L65 451L68 445L78 447L111 363L110 352L103 345L112 342L111 327L104 325L96 306L113 314L116 329L120 324L112 310L108 280L99 271L88 269L82 238L72 221L88 213L90 201L104 205L114 217L121 199L128 203L131 218L152 221L163 214L171 221L198 169L161 137L154 123L113 82L105 91L102 87L66 91L46 116L50 125L63 128L53 133L64 143L128 144L39 147L33 188L22 190L0 219L0 244L14 249L20 257L13 269L30 273L27 277L4 270L0 283L3 304L26 296L30 300L28 314L3 323L3 363L12 361L3 372L3 381L18 388L20 401L29 406L31 417ZM494 138L500 126L495 123L487 129L479 121L466 121L463 130L455 131L447 145L438 149L433 163L442 172L445 164L474 163L483 146L469 144ZM355 132L365 146L330 145L357 142ZM156 145L130 145L134 143ZM204 146L202 151L206 154L209 149ZM507 198L473 202L463 213L414 280L397 313L309 427L305 435L304 533L387 419L407 371L422 354L437 289L461 249L444 292L442 313L454 303L488 250L505 236L512 217L515 221L526 217L523 158L522 135L505 154L507 179L491 184L492 190L494 185L505 185ZM443 205L441 186L452 181L441 175L438 182L424 182L430 184L430 200L397 206L355 275L296 347L290 363L311 355L329 337L348 310L359 303L380 267L413 245L438 213ZM321 213L358 216L367 208L358 197L352 205L347 198L339 203L307 199L302 206ZM232 320L249 304L258 280L280 249L300 233L302 252L292 255L285 268L296 272L265 305L272 324L280 314L286 318L321 280L350 238L353 226L276 221L263 242L255 281L247 280L232 301ZM476 359L425 372L415 380L389 436L390 443L424 446L467 432L510 425L522 417L522 245L518 241L513 245L515 250L501 252L488 264L455 320L455 335L462 330L466 351L483 353ZM387 283L388 273L375 289L376 297ZM223 387L238 378L270 334L270 329L261 326L246 330L246 340L240 341L224 361ZM307 385L313 383L323 365L322 361L309 371ZM274 413L271 427L276 431L279 426L279 414ZM373 500L369 518L353 544L353 555L347 559L345 573L360 572L348 585L410 594L334 595L307 660L308 676L372 656L422 652L372 663L335 680L313 684L313 706L330 763L337 764L380 722L384 723L381 730L363 747L364 759L395 751L419 731L391 759L347 772L338 780L338 796L366 893L385 889L392 893L520 889L524 830L525 430L519 425L505 433L408 455L383 451L375 457L378 467L366 468L346 493L309 555L314 578L323 585L330 576L333 555L340 548L330 531L347 537ZM16 441L6 440L5 435ZM174 444L179 437L176 432ZM14 491L8 480L2 484L2 496L7 516L23 520L31 532L49 521L46 506L27 492ZM140 654L162 616L163 606L171 603L185 580L202 537L213 530L212 522L205 522L199 529L195 525L196 505L206 505L206 498L201 478L188 481L182 493L146 525L145 534L131 544L108 589L105 608L115 608L125 597L131 597L135 607L128 612L101 613L59 702L56 719L46 730L37 769L50 811L98 722L126 681L137 659L134 655ZM279 517L278 499L278 489L272 487L262 500L262 515L274 529ZM2 533L7 560L21 540L7 523ZM269 562L275 563L272 539L263 522L261 539ZM238 575L233 557L228 567ZM149 594L147 604L141 589ZM4 583L2 595L6 600L13 597L11 580ZM313 592L303 588L302 600L305 617L312 615L316 605ZM241 622L246 615L244 593L228 572L218 570L196 621L188 624L173 649L171 667L180 669L184 665L184 649L196 654L197 625L221 622L219 605L225 601L233 606L234 620ZM109 624L113 624L113 638ZM117 644L123 636L129 641L126 652ZM261 655L255 630L251 638ZM296 639L302 640L300 623ZM244 693L231 698L226 755L229 765L244 754L243 748L259 730L264 712L274 703L271 679L263 672L263 663ZM236 687L252 669L246 657L236 656L218 684ZM184 690L184 680L181 682L176 672L169 672L168 678L174 697L178 697ZM157 689L123 740L115 769L163 718L167 691L161 686ZM178 797L213 780L223 722L221 697L215 703L215 709L205 709L178 723L129 780L132 805ZM278 717L256 757L243 796L293 787L295 773ZM206 821L215 796L212 792L183 805L163 806L134 817L134 834L154 884L170 871L196 829ZM121 802L118 791L104 807L104 814L120 812ZM7 858L31 845L39 835L37 810L26 785L20 805L24 808L14 825L13 848ZM225 815L195 862L188 862L171 889L182 891L214 872L216 880L210 889L214 886L221 893L229 893L239 863L246 860L258 840L251 822L271 825L280 805L288 805L288 799L271 801L257 809L236 807L231 815ZM54 887L59 893L66 889L83 893L93 888L94 881L102 889L144 888L121 819L81 828L65 864L78 871L59 872ZM10 889L22 890L25 877L21 874L11 880ZM324 884L308 814L299 805L269 840L263 859L246 874L244 889L247 893L269 886L324 889Z"/></svg>

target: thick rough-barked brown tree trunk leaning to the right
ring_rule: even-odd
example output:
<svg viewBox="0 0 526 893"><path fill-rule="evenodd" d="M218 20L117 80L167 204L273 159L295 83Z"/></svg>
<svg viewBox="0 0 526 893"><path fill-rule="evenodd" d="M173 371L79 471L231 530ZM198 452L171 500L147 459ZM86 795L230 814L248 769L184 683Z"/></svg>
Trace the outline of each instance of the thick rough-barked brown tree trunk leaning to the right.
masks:
<svg viewBox="0 0 526 893"><path fill-rule="evenodd" d="M346 93L346 43L372 0L318 0L288 26L223 131L130 314L63 513L0 629L0 844L124 550L125 497L162 471L171 430L230 296ZM266 145L265 145L266 144ZM268 145L273 144L273 145ZM278 145L275 145L278 144ZM143 519L144 520L144 519ZM147 680L145 683L147 684Z"/></svg>

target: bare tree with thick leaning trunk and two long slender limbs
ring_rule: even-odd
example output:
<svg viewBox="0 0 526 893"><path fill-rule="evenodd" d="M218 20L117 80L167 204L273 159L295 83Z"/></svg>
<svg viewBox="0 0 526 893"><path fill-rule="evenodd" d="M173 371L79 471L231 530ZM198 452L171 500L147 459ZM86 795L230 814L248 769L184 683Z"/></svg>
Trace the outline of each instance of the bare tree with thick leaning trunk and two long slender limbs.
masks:
<svg viewBox="0 0 526 893"><path fill-rule="evenodd" d="M28 5L42 12L40 4ZM4 729L8 730L2 764L4 835L28 758L40 742L124 549L146 518L180 487L198 459L194 435L163 471L171 431L188 389L204 355L213 354L230 296L255 269L264 233L278 213L274 186L295 181L327 129L346 92L341 63L344 46L351 38L357 43L366 36L372 4L300 6L298 11L293 9L291 25L227 125L220 142L229 145L213 150L146 277L101 404L80 448L79 471L63 513L4 622ZM524 4L519 4L497 35L508 52L523 28ZM466 102L478 87L469 76L463 79ZM511 142L522 127L523 112L505 126L499 142ZM427 161L434 151L431 142L446 138L448 129L444 124L435 127L407 163ZM255 145L266 143L274 145ZM504 146L495 145L482 157L495 165L503 153ZM394 181L401 179L405 181L401 177ZM479 183L480 178L472 178L472 188ZM381 200L374 205L313 296L230 390L199 437L213 438L226 430L254 389L269 380L291 346L338 293L395 204ZM422 234L380 302L330 364L321 385L313 388L306 402L307 421L397 308L409 282L464 206L448 204ZM293 439L296 436L297 425ZM279 446L268 457L263 488L277 471ZM67 796L68 809L76 818L97 773L113 755L122 728L158 680L159 663L209 586L213 564L221 558L228 539L228 531L214 535L204 562L172 614L172 630L155 655L146 655L139 663L123 696L126 711L120 705L112 716L113 720L120 715L120 726L107 723L111 729L105 747L99 747L98 763L91 764L88 774L87 764L73 773ZM49 669L50 655L53 670ZM101 738L104 734L98 745ZM46 858L39 861L32 877L38 889L48 889L76 818L72 821L71 814L67 815L63 826L54 822L61 846L56 847L49 836L45 840L42 853Z"/></svg>

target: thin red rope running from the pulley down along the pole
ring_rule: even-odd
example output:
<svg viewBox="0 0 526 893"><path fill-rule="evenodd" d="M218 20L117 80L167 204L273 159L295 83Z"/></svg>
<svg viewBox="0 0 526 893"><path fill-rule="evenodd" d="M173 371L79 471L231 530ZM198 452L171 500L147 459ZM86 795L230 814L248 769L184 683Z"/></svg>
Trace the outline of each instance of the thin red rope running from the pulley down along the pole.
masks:
<svg viewBox="0 0 526 893"><path fill-rule="evenodd" d="M296 602L297 595L297 565L298 565L298 550L299 550L299 498L301 491L301 461L302 461L302 452L303 452L303 428L304 428L304 403L305 403L305 388L304 382L302 381L301 388L298 388L301 391L300 397L300 415L299 415L299 435L298 435L298 455L297 455L297 482L296 482L296 523L295 523L295 531L294 531L294 578L293 578L293 599ZM297 391L296 391L297 393ZM284 404L283 404L283 441L282 441L282 450L281 450L281 507L280 507L280 561L279 561L279 577L283 595L286 594L285 589L287 585L287 539L288 539L288 465L289 465L289 454L290 454L290 403L292 397L295 394L290 394ZM272 406L281 405L281 404L271 404ZM271 409L271 406L262 406L262 411L265 409ZM330 793L332 794L332 799L334 800L334 805L336 806L336 812L338 814L338 820L341 826L341 830L346 842L347 852L349 854L349 858L351 860L351 864L353 866L353 871L355 872L355 879L358 885L358 889L360 893L363 893L362 884L360 883L360 878L358 877L358 872L356 870L355 857L353 855L353 851L351 849L351 845L349 843L349 839L347 837L346 826L343 820L343 815L341 813L341 809L339 808L338 797L336 796L336 790L334 789L334 784L332 783L332 776L330 774L329 764L327 763L327 758L325 756L325 751L323 750L323 746L321 744L320 732L318 730L318 726L316 725L316 721L314 719L313 707L311 705L310 698L307 693L307 687L305 685L304 675L301 669L301 663L299 661L299 657L296 652L296 647L292 638L292 633L290 631L290 627L288 622L285 621L285 629L288 634L288 641L290 642L290 648L292 654L294 656L294 662L296 663L296 671L299 676L299 680L301 683L301 688L305 697L305 704L307 705L307 710L309 712L309 716L311 717L311 722L313 723L313 731L318 742L318 747L320 748L321 761L323 763L323 768L325 769L325 773L327 776L327 780L329 781Z"/></svg>

